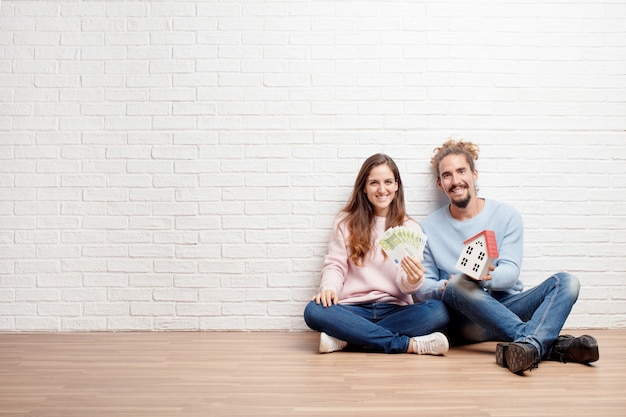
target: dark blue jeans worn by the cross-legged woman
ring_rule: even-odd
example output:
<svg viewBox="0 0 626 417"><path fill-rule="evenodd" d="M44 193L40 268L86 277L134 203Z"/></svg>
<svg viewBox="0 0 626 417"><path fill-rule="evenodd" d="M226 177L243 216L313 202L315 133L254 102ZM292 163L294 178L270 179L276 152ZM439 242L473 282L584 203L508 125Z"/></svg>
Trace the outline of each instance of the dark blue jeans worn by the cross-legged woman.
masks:
<svg viewBox="0 0 626 417"><path fill-rule="evenodd" d="M311 301L304 321L313 330L366 350L404 353L411 337L443 331L448 310L440 300L399 306L389 303L337 304L323 307Z"/></svg>

